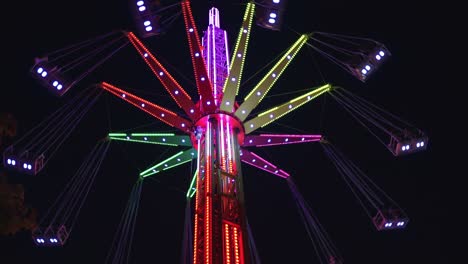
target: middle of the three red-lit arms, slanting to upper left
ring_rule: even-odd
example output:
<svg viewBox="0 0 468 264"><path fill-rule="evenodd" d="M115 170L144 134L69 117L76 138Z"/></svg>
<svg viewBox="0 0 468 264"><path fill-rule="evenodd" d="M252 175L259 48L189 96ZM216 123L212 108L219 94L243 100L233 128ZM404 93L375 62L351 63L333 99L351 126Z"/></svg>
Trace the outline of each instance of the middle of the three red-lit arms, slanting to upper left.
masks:
<svg viewBox="0 0 468 264"><path fill-rule="evenodd" d="M185 113L192 119L196 120L200 116L200 111L195 107L195 104L190 98L190 95L180 86L180 84L172 77L172 75L162 66L156 57L145 47L145 45L133 34L127 34L128 39L133 44L135 49L140 53L146 64L151 68L154 75L159 79L172 99L182 108Z"/></svg>

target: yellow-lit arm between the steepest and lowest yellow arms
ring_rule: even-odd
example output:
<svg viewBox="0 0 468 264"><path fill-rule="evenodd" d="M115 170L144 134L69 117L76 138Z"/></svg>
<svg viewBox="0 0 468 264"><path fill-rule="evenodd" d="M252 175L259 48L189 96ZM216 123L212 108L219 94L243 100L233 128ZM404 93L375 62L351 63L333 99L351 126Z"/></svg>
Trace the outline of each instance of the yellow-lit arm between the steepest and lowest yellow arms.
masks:
<svg viewBox="0 0 468 264"><path fill-rule="evenodd" d="M252 89L245 97L244 102L236 110L235 115L244 121L249 113L263 100L268 91L273 87L276 80L281 76L283 71L294 59L297 52L304 46L308 39L308 35L304 34L284 53L283 57L271 68L271 70L263 77L263 79Z"/></svg>

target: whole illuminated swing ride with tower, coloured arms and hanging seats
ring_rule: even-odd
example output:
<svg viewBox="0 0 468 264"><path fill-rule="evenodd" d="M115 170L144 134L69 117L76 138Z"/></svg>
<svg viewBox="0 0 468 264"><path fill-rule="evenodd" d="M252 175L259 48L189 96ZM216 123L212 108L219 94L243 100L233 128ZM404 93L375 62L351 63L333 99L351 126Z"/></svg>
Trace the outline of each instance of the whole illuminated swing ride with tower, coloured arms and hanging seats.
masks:
<svg viewBox="0 0 468 264"><path fill-rule="evenodd" d="M132 5L140 29L139 34L145 38L160 34L159 30L162 28L164 17L156 11L164 8L155 2L157 1L135 0ZM190 97L186 89L163 66L157 54L153 54L133 32L113 32L61 50L60 56L53 53L37 59L31 70L32 75L52 93L61 96L118 50L131 43L183 113L166 109L111 82L102 82L97 85L100 89L96 89L96 86L84 89L69 104L41 123L34 133L25 135L7 148L4 153L6 167L29 174L39 173L97 100L102 90L180 131L180 134L109 133L106 140L96 145L67 185L64 194L59 197L61 202L65 201L67 205L56 207L53 209L55 212L51 213L54 215L45 217L49 220L45 220L43 223L46 224L38 227L33 233L34 242L38 246L61 246L67 241L75 224L73 218L83 205L110 141L185 148L140 173L139 180L132 189L131 201L125 210L120 239L117 240L123 244L114 246L115 255L110 257L112 263L128 261L130 249L125 248L125 241L131 240L133 236L142 180L192 160L196 161L196 171L187 192L188 212L191 211L192 197L195 197L195 203L193 214L190 216L193 222L186 223L186 239L190 245L184 249L186 263L259 262L246 218L242 163L287 180L321 263L341 263L343 260L340 254L312 214L289 173L252 152L249 147L308 142L322 144L327 157L337 167L377 230L404 228L409 221L404 211L322 135L254 133L257 129L312 102L320 95L330 94L372 135L383 142L393 155L404 155L427 147L428 138L419 129L331 84L309 89L283 104L252 115L252 111L262 102L305 46L312 47L363 82L390 56L384 45L365 38L323 32L301 34L264 73L263 78L249 88L247 96L240 100L239 88L254 17L257 15L258 25L278 30L275 24L280 23L282 19L282 2L248 2L232 52L228 47L228 34L221 28L218 9L213 7L209 10L208 28L200 38L192 16L191 2L183 0L176 4L181 7L183 14L198 91L197 98ZM96 43L105 45L99 46ZM87 66L89 61L92 61L89 64L92 66ZM78 71L74 77L70 77L73 75L73 69L83 68L86 70ZM57 129L50 129L52 126L56 126ZM76 208L78 210L75 210Z"/></svg>

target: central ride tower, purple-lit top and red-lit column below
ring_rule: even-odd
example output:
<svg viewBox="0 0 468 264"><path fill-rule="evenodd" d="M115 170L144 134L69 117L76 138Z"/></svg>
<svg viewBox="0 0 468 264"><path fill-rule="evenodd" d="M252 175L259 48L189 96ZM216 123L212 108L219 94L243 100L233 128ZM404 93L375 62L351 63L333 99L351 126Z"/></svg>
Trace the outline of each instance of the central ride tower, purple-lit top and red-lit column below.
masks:
<svg viewBox="0 0 468 264"><path fill-rule="evenodd" d="M229 74L229 52L216 8L209 11L202 45L213 97L219 105ZM249 263L240 166L243 125L232 115L215 113L199 119L195 127L192 142L198 151L198 175L193 263Z"/></svg>

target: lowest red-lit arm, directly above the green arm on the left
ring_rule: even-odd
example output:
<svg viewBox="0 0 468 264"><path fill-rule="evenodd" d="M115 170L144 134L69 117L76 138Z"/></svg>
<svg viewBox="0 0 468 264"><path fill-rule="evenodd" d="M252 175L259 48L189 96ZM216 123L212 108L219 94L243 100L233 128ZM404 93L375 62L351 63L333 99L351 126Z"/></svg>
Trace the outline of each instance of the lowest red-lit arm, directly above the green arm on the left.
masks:
<svg viewBox="0 0 468 264"><path fill-rule="evenodd" d="M128 93L122 89L119 89L109 83L101 83L101 87L112 94L120 97L121 99L131 103L132 105L140 108L141 110L147 112L148 114L156 117L157 119L163 121L164 123L176 127L186 133L190 133L190 127L192 127L192 122L180 117L174 112L171 112L161 106L148 102L136 95Z"/></svg>

